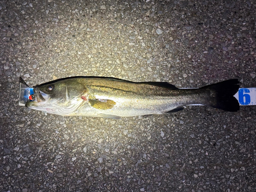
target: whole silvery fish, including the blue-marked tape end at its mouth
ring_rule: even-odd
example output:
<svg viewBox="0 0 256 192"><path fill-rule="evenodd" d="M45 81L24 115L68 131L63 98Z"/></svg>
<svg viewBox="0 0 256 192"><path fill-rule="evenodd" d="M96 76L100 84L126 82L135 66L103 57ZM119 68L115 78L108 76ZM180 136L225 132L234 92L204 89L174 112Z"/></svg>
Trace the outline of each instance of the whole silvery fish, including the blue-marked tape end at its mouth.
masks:
<svg viewBox="0 0 256 192"><path fill-rule="evenodd" d="M229 79L196 89L168 82L133 82L112 77L74 76L32 88L20 77L19 105L62 116L131 117L178 112L185 105L206 105L239 111L233 97L239 80Z"/></svg>

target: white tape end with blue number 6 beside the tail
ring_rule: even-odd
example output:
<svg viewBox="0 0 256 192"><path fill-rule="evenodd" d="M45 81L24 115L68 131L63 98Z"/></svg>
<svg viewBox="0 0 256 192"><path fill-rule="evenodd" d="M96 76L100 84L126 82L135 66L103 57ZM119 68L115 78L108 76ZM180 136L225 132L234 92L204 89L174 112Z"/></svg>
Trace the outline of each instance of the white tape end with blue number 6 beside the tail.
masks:
<svg viewBox="0 0 256 192"><path fill-rule="evenodd" d="M256 105L256 88L240 88L234 97L240 105Z"/></svg>

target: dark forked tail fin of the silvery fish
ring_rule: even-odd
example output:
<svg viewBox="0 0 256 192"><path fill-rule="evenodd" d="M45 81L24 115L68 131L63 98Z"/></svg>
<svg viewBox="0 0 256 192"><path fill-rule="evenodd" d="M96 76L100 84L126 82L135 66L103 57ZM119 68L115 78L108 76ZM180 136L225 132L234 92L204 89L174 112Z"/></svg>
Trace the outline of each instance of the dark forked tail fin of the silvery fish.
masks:
<svg viewBox="0 0 256 192"><path fill-rule="evenodd" d="M229 79L226 81L210 84L202 87L210 91L211 101L208 105L224 111L236 112L239 110L239 102L233 97L239 90L238 79Z"/></svg>

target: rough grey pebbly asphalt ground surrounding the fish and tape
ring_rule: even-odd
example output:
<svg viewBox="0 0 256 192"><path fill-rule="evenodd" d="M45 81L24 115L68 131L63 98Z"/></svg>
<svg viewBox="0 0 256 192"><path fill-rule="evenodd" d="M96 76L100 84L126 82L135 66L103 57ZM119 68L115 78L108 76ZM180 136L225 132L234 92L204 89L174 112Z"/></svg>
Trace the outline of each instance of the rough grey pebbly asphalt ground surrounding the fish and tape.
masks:
<svg viewBox="0 0 256 192"><path fill-rule="evenodd" d="M18 106L30 85L109 76L256 87L255 1L0 2L1 191L256 191L256 107L122 119Z"/></svg>

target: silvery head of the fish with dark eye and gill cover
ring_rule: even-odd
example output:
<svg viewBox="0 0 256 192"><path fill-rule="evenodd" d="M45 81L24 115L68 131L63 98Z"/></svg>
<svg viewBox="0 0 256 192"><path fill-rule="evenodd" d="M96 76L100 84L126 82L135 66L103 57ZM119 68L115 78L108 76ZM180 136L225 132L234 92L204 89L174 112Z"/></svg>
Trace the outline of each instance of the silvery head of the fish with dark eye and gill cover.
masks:
<svg viewBox="0 0 256 192"><path fill-rule="evenodd" d="M59 115L72 114L87 96L87 89L73 79L40 84L33 91L32 100L26 103L28 108Z"/></svg>

